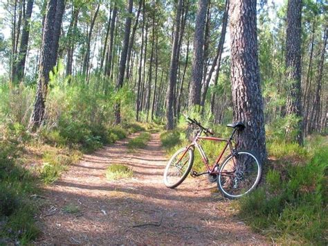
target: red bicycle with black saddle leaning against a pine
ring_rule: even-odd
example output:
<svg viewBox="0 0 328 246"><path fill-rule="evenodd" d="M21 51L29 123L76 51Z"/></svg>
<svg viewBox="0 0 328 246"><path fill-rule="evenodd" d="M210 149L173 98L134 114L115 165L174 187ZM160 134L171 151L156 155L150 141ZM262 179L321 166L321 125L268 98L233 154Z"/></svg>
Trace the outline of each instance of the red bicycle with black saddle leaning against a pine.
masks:
<svg viewBox="0 0 328 246"><path fill-rule="evenodd" d="M210 182L217 182L219 191L230 199L242 197L250 191L253 191L257 184L259 184L262 175L262 164L252 152L247 150L236 150L233 146L233 137L235 133L246 128L244 123L237 122L228 124L227 127L233 128L233 132L228 139L222 139L210 137L210 135L214 135L210 129L204 128L203 125L195 119L186 118L188 125L196 127L197 131L192 138L192 143L176 151L168 161L164 171L165 186L168 188L176 188L190 173L192 177L199 177L207 174ZM206 136L201 136L203 133ZM226 142L221 155L217 157L212 167L210 167L206 153L200 143L198 143L199 139ZM195 146L197 150L199 150L203 164L205 164L207 169L203 173L197 173L192 170ZM219 161L227 149L230 150L230 155L228 155L220 165Z"/></svg>

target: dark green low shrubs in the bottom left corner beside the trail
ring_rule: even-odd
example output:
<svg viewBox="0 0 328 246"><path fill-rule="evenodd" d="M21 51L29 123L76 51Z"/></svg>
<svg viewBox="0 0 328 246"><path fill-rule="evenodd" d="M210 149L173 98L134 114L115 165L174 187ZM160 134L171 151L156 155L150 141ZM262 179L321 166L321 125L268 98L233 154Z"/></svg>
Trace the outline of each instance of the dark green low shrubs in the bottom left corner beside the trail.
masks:
<svg viewBox="0 0 328 246"><path fill-rule="evenodd" d="M27 243L39 234L33 218L35 204L30 202L30 195L37 193L37 180L17 164L18 154L17 141L0 136L0 238Z"/></svg>

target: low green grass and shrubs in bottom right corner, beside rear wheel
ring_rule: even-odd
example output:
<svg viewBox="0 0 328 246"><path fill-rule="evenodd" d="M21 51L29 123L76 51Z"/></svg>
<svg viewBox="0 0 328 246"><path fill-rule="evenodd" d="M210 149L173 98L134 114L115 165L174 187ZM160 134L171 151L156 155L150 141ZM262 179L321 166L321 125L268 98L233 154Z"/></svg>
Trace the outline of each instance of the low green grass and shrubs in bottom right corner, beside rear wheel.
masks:
<svg viewBox="0 0 328 246"><path fill-rule="evenodd" d="M277 243L325 244L327 158L325 145L306 164L273 165L262 188L238 201L239 216Z"/></svg>

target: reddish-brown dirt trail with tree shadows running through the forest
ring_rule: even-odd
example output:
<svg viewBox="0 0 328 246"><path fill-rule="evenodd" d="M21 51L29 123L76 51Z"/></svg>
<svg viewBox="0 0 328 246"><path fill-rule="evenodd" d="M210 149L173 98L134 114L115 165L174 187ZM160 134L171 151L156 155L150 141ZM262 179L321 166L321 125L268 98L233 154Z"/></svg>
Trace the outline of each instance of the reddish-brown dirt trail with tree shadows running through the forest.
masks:
<svg viewBox="0 0 328 246"><path fill-rule="evenodd" d="M136 134L131 135L135 137ZM128 139L129 139L128 138ZM46 187L46 206L37 244L261 244L228 211L228 200L212 193L206 177L187 179L176 189L163 184L166 157L158 134L147 148L129 152L128 139L84 155L79 164ZM110 164L133 168L134 178L108 182ZM76 213L64 208L77 206Z"/></svg>

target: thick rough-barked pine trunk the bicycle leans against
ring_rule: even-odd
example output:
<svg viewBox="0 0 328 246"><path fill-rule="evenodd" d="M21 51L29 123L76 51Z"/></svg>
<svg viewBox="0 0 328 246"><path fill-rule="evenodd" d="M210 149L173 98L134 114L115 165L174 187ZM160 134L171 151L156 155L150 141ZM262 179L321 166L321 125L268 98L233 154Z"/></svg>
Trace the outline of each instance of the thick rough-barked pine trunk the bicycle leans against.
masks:
<svg viewBox="0 0 328 246"><path fill-rule="evenodd" d="M236 136L237 148L253 150L266 160L262 94L257 50L256 0L230 1L233 119L246 128Z"/></svg>

